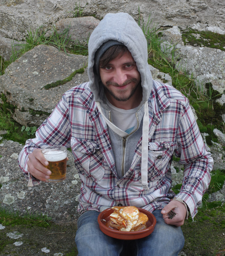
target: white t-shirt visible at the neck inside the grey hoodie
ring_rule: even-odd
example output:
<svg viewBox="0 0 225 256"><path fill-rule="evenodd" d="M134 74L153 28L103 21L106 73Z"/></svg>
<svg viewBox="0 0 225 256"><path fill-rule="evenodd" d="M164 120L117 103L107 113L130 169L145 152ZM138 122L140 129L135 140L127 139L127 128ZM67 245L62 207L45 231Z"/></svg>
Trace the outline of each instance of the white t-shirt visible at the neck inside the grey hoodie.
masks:
<svg viewBox="0 0 225 256"><path fill-rule="evenodd" d="M122 131L125 131L127 134L132 133L137 128L137 118L136 111L138 109L119 109L112 105L106 98L106 103L110 108L111 112L111 122L114 123Z"/></svg>

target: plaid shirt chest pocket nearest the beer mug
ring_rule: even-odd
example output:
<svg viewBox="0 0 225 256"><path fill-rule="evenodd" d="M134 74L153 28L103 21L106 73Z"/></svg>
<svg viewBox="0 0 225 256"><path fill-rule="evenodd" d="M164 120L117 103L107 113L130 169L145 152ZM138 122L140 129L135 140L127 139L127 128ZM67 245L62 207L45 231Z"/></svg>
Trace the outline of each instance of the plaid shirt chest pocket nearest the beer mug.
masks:
<svg viewBox="0 0 225 256"><path fill-rule="evenodd" d="M96 142L71 138L71 150L78 172L93 181L99 181L105 174L104 157Z"/></svg>

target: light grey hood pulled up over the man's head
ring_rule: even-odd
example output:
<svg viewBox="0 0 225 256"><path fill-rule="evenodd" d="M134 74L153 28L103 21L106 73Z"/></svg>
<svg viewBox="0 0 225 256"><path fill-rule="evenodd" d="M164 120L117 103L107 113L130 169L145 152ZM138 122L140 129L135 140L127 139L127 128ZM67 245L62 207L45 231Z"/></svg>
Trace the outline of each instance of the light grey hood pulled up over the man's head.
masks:
<svg viewBox="0 0 225 256"><path fill-rule="evenodd" d="M142 29L127 13L107 14L92 32L88 43L88 76L89 86L95 101L100 101L99 77L94 73L94 58L98 48L108 40L115 40L127 46L134 58L141 75L143 99L141 105L148 100L152 90L152 75L148 67L147 42Z"/></svg>

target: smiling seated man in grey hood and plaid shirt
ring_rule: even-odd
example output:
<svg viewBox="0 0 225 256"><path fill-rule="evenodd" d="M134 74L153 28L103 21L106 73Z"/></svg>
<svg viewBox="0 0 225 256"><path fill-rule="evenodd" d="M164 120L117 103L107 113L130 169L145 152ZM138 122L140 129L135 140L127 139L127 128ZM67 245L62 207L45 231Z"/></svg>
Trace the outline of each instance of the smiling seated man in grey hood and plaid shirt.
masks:
<svg viewBox="0 0 225 256"><path fill-rule="evenodd" d="M210 182L206 151L188 100L152 80L147 43L135 20L107 14L89 39L89 83L66 92L19 156L29 186L47 181L41 148L71 147L81 179L76 244L80 256L178 255L180 226L193 218ZM180 193L171 190L172 156L184 164ZM99 212L130 205L152 212L154 232L132 242L98 227ZM169 219L172 210L177 213Z"/></svg>

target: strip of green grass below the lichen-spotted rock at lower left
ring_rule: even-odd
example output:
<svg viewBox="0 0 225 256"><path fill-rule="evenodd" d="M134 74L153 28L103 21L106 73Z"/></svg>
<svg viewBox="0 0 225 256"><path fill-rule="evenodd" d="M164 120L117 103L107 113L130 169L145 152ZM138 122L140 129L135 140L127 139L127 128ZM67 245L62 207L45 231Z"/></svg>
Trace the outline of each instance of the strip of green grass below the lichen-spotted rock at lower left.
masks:
<svg viewBox="0 0 225 256"><path fill-rule="evenodd" d="M20 215L19 212L10 212L0 207L0 223L3 226L26 225L26 227L49 227L51 218L42 214L27 212Z"/></svg>

